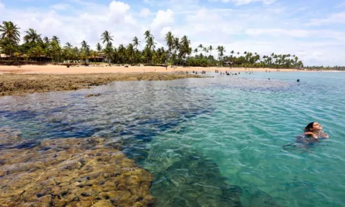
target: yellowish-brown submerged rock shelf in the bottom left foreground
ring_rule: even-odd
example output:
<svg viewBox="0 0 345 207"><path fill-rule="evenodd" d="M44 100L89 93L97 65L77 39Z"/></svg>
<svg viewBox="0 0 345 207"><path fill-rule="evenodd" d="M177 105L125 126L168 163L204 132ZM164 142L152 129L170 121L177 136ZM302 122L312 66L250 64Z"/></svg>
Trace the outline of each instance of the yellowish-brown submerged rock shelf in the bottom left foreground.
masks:
<svg viewBox="0 0 345 207"><path fill-rule="evenodd" d="M1 206L151 205L152 175L107 141L46 139L29 148L0 148ZM1 134L0 143L15 146Z"/></svg>

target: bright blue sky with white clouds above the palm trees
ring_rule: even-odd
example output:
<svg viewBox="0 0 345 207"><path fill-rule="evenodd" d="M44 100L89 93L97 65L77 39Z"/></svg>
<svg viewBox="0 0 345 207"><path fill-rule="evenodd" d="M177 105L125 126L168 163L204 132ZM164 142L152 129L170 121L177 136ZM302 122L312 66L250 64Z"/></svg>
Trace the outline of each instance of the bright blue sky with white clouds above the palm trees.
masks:
<svg viewBox="0 0 345 207"><path fill-rule="evenodd" d="M259 55L297 55L305 66L345 66L345 0L0 0L0 21L23 32L57 35L61 43L91 48L108 30L114 44L141 40L150 30L186 35L193 48L224 46ZM214 50L213 55L217 52Z"/></svg>

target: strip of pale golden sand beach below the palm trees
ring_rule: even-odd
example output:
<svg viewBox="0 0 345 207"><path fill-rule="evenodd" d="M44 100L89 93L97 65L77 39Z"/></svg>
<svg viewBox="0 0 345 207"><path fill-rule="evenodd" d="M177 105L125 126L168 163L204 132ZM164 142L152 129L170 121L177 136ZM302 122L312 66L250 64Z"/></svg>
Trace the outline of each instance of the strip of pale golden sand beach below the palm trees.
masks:
<svg viewBox="0 0 345 207"><path fill-rule="evenodd" d="M74 66L67 68L67 66L36 66L36 65L25 65L25 66L0 66L0 75L3 74L89 74L89 73L132 73L132 72L192 72L197 70L198 72L215 72L219 70L220 72L344 72L339 70L297 70L297 69L279 69L279 68L226 68L226 67L181 67L181 66ZM279 71L277 71L279 70Z"/></svg>

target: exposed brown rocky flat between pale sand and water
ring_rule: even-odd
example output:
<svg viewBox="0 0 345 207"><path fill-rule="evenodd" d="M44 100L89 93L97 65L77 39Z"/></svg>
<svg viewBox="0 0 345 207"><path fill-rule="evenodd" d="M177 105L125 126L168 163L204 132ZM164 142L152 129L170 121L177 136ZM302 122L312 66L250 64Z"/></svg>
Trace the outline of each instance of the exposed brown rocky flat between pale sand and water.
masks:
<svg viewBox="0 0 345 207"><path fill-rule="evenodd" d="M0 75L0 97L34 92L78 90L112 81L166 81L199 77L178 73L5 74Z"/></svg>

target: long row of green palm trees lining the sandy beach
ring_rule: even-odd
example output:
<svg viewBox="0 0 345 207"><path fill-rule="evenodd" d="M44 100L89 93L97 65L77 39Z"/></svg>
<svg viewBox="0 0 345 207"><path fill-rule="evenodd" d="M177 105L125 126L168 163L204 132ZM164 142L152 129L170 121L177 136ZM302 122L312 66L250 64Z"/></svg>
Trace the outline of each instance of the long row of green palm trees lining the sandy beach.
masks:
<svg viewBox="0 0 345 207"><path fill-rule="evenodd" d="M128 46L113 46L114 37L108 31L101 34L101 43L97 43L95 50L91 50L88 42L82 41L80 47L66 43L61 46L59 37L41 37L36 30L29 28L25 31L23 43L17 25L12 21L3 21L0 25L0 53L8 55L11 61L31 60L55 63L86 63L86 61L117 64L171 64L184 66L236 66L236 67L267 67L267 68L302 68L303 63L295 55L260 56L257 52L230 51L226 54L224 46L203 46L191 48L186 35L179 39L171 32L166 34L166 46L156 48L156 42L150 30L144 33L144 50L138 50L141 41L137 37ZM217 52L213 56L213 50ZM194 56L192 56L194 55Z"/></svg>

